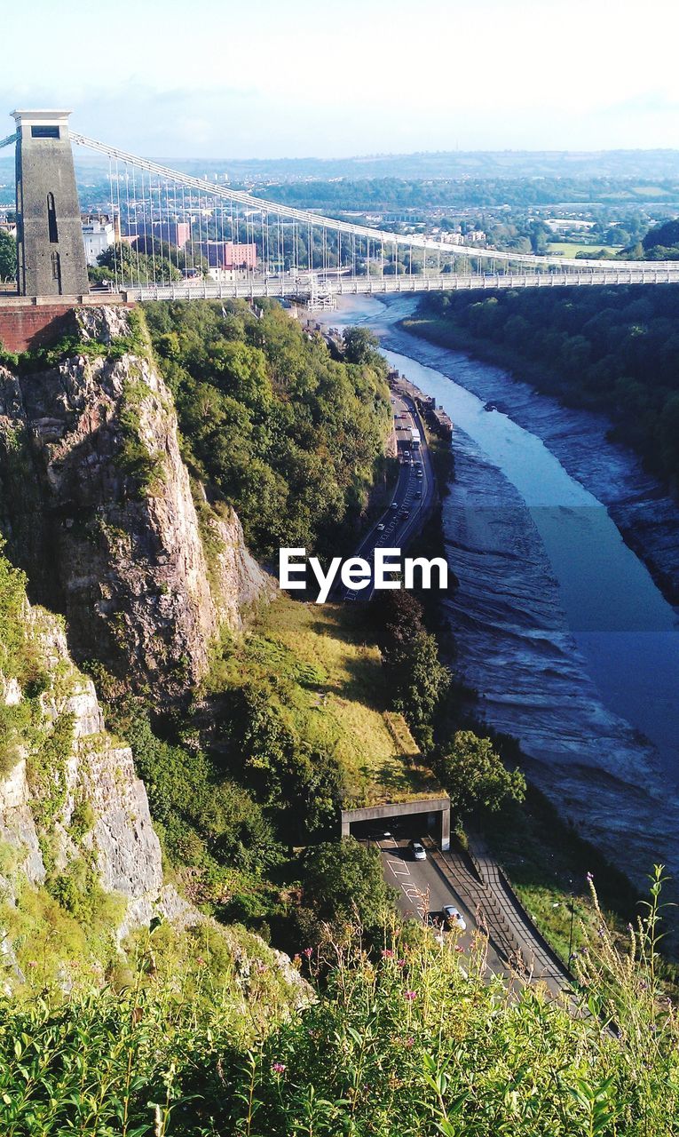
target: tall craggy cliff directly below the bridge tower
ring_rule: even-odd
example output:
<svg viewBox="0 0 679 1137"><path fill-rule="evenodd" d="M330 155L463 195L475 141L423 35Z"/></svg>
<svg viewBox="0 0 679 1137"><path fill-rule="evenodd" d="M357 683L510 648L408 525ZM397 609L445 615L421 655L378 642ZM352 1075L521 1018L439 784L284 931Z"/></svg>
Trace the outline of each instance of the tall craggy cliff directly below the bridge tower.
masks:
<svg viewBox="0 0 679 1137"><path fill-rule="evenodd" d="M134 314L73 318L53 366L0 368L0 525L77 659L174 698L203 674L219 625L237 629L270 584L233 512L192 487Z"/></svg>

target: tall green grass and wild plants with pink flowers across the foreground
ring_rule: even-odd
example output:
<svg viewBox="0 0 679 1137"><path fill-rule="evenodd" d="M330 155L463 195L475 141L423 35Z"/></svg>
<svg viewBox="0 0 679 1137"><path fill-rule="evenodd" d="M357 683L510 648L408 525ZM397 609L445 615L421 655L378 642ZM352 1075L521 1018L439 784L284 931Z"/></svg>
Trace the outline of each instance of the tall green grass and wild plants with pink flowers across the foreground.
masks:
<svg viewBox="0 0 679 1137"><path fill-rule="evenodd" d="M484 943L394 927L301 952L318 998L253 1029L228 988L160 981L0 1009L2 1137L664 1137L679 1130L656 874L621 949L602 916L561 999ZM596 905L596 896L593 894Z"/></svg>

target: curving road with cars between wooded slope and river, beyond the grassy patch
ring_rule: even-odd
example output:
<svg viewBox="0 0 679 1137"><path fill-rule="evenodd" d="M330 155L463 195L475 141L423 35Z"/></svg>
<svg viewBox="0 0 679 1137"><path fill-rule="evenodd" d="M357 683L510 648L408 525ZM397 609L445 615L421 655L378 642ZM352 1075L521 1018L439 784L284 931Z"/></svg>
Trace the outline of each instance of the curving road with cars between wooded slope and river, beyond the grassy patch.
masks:
<svg viewBox="0 0 679 1137"><path fill-rule="evenodd" d="M354 556L362 557L371 565L376 548L402 549L412 540L436 496L431 455L417 407L410 396L396 392L392 393L392 406L401 462L399 481L392 498L392 507L385 509L354 553ZM421 439L419 449L412 449L409 445L408 437L412 430L419 431ZM418 470L421 470L421 476L418 476ZM403 512L406 512L408 516L403 516ZM375 582L371 576L366 588L344 589L341 595L345 600L369 600L374 589Z"/></svg>

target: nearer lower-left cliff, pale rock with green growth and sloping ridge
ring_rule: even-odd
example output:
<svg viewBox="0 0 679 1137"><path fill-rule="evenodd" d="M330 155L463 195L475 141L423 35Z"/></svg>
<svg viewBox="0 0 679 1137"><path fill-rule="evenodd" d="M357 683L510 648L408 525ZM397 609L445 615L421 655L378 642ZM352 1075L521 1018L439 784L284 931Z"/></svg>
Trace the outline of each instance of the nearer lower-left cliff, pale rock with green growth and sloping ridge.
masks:
<svg viewBox="0 0 679 1137"><path fill-rule="evenodd" d="M249 1013L262 976L269 1001L308 1002L287 956L207 920L164 882L132 752L107 733L62 620L27 603L0 555L0 988L104 981L133 960L154 916L174 960L193 960L196 944L198 954L218 947Z"/></svg>

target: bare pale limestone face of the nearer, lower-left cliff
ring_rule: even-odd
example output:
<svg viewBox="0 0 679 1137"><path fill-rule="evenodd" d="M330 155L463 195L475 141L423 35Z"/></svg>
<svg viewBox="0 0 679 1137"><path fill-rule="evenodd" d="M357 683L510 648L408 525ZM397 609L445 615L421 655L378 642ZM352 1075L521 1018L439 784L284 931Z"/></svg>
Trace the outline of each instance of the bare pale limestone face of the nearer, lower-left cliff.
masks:
<svg viewBox="0 0 679 1137"><path fill-rule="evenodd" d="M11 894L17 879L31 885L44 881L49 833L56 871L78 857L92 857L100 883L125 898L126 921L135 926L149 918L162 890L160 843L146 790L135 775L129 747L116 744L104 731L94 686L70 663L59 621L27 607L26 622L35 628L47 673L53 677L40 696L37 731L47 737L59 719L68 716L69 732L66 750L48 769L42 787L32 785L31 754L19 756L0 778L0 840L15 854L12 875L0 878L0 887ZM17 706L22 698L16 680L0 675L0 703ZM45 815L41 794L51 795L55 787L60 789L58 807ZM76 813L83 804L84 824Z"/></svg>

